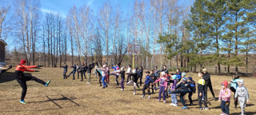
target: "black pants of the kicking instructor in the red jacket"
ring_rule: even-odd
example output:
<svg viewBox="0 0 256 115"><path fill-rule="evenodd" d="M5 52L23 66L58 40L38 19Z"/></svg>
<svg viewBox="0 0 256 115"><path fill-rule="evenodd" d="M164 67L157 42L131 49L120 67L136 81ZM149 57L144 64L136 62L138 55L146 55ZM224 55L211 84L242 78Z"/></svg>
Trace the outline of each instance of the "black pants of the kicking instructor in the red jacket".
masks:
<svg viewBox="0 0 256 115"><path fill-rule="evenodd" d="M45 81L42 81L41 79L38 79L37 77L16 77L16 80L18 81L19 85L22 87L22 97L21 100L24 101L24 98L26 97L26 81L34 80L38 83L41 83L42 85L46 85Z"/></svg>

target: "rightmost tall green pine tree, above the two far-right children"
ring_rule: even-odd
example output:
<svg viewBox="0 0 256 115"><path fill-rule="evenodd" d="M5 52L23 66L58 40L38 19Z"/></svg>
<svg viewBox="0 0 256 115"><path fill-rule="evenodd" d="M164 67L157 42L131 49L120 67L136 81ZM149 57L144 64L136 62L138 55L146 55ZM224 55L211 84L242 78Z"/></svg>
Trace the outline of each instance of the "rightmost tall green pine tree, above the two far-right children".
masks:
<svg viewBox="0 0 256 115"><path fill-rule="evenodd" d="M252 0L228 0L227 6L229 10L229 24L227 24L227 29L230 30L227 34L230 34L234 38L234 56L230 59L230 64L235 66L235 71L238 72L238 66L243 65L242 59L238 57L239 45L242 45L244 37L248 36L248 27L246 27L246 12L250 9L249 3ZM246 32L247 31L247 32Z"/></svg>

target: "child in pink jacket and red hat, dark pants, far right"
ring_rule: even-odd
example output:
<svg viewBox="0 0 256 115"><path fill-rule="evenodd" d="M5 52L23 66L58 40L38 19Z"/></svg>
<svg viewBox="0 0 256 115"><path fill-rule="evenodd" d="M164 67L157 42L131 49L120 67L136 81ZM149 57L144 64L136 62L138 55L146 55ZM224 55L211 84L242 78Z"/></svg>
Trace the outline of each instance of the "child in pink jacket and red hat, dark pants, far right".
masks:
<svg viewBox="0 0 256 115"><path fill-rule="evenodd" d="M228 82L222 82L222 89L218 96L218 101L222 100L221 108L222 113L221 115L228 115L230 114L230 97L231 97L231 90L227 88Z"/></svg>

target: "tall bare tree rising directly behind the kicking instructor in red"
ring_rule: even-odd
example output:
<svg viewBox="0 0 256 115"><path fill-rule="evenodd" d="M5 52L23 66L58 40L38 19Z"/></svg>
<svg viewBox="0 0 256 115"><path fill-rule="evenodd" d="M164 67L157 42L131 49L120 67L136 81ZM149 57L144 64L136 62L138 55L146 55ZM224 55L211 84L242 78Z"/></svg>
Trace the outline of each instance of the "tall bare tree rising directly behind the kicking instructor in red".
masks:
<svg viewBox="0 0 256 115"><path fill-rule="evenodd" d="M34 28L37 26L38 14L40 9L40 1L17 0L15 6L15 15L17 17L17 26L22 34L22 43L24 54L26 55L27 65L30 65L31 48L34 46L32 42ZM35 40L34 40L35 41Z"/></svg>

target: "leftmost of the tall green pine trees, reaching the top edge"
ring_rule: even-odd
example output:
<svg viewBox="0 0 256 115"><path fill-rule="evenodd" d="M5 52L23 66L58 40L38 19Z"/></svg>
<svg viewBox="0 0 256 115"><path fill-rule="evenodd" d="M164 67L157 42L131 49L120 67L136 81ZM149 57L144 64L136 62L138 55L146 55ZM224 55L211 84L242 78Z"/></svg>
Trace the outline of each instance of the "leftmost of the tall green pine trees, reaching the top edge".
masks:
<svg viewBox="0 0 256 115"><path fill-rule="evenodd" d="M208 46L210 46L211 39L208 38L210 33L209 25L206 22L209 17L206 15L206 0L196 0L191 7L191 15L190 15L190 24L192 33L194 34L194 42L196 43L195 54L198 54L200 51L200 55L198 57L191 58L191 63L195 65L199 64L201 69L202 65L206 62L207 57L203 56L203 50L206 50Z"/></svg>

